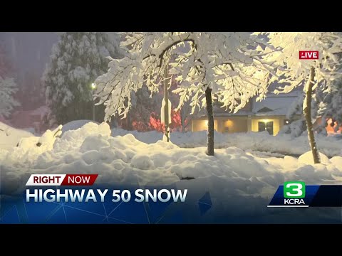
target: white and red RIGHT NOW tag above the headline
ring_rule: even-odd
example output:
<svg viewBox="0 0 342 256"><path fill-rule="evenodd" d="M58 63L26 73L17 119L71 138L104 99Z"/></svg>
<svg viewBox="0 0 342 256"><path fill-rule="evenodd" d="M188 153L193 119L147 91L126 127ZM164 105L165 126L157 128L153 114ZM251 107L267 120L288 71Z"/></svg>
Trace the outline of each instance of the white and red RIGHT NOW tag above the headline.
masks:
<svg viewBox="0 0 342 256"><path fill-rule="evenodd" d="M31 174L26 186L91 186L98 174Z"/></svg>

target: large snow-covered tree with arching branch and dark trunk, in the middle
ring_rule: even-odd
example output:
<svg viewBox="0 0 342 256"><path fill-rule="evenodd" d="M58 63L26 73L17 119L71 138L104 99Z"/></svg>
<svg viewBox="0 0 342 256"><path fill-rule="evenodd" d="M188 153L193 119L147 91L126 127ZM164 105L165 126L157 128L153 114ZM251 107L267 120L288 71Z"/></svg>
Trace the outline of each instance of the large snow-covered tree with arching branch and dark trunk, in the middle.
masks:
<svg viewBox="0 0 342 256"><path fill-rule="evenodd" d="M190 100L192 112L196 107L207 109L207 154L213 155L212 99L237 112L250 97L265 97L273 68L261 56L272 49L250 33L142 32L124 36L124 58L111 58L108 72L96 80L95 96L100 99L98 104L105 105L105 119L115 114L126 117L132 90L146 85L150 92L157 92L170 65L169 73L180 81L180 87L174 90L180 95L178 107ZM276 79L275 73L271 79Z"/></svg>

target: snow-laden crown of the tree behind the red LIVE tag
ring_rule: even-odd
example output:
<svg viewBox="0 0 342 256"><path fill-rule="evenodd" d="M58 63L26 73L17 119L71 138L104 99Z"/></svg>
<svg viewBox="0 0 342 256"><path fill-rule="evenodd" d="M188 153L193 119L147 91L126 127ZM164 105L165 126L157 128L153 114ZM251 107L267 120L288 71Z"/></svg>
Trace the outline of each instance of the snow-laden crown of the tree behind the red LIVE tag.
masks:
<svg viewBox="0 0 342 256"><path fill-rule="evenodd" d="M315 82L331 81L340 78L342 35L336 32L271 32L266 33L272 46L280 51L264 56L264 60L279 65L277 74L279 87L275 93L291 92L295 87L304 85L309 78L311 68L315 69ZM318 50L319 58L300 60L299 50ZM304 90L306 87L304 87Z"/></svg>

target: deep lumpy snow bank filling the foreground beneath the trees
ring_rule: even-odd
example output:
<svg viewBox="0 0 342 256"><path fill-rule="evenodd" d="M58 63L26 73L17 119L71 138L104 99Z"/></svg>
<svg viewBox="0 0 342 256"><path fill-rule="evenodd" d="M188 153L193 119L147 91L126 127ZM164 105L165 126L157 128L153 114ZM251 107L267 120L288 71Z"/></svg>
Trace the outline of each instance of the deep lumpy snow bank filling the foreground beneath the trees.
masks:
<svg viewBox="0 0 342 256"><path fill-rule="evenodd" d="M181 148L162 141L146 144L133 134L110 136L115 132L118 130L110 131L106 123L90 122L81 129L65 132L56 139L52 150L42 146L2 149L1 194L21 193L30 174L95 173L99 174L97 184L175 184L177 188L187 188L190 197L209 191L217 210L230 209L229 213L238 216L242 212L262 215L284 181L342 183L341 156L325 158L323 164L308 164L309 154L300 159L277 154L257 156L237 146L216 149L214 156L207 156L204 146ZM180 142L173 135L173 141ZM232 137L233 134L229 138ZM182 144L186 142L184 139ZM232 211L233 208L239 210Z"/></svg>

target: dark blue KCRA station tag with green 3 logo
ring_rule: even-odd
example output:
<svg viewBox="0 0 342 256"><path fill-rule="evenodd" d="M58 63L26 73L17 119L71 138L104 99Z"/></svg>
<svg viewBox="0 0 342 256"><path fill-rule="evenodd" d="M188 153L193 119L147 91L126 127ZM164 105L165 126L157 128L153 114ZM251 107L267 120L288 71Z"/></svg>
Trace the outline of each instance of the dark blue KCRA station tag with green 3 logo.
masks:
<svg viewBox="0 0 342 256"><path fill-rule="evenodd" d="M342 186L288 181L279 186L268 207L342 207Z"/></svg>

